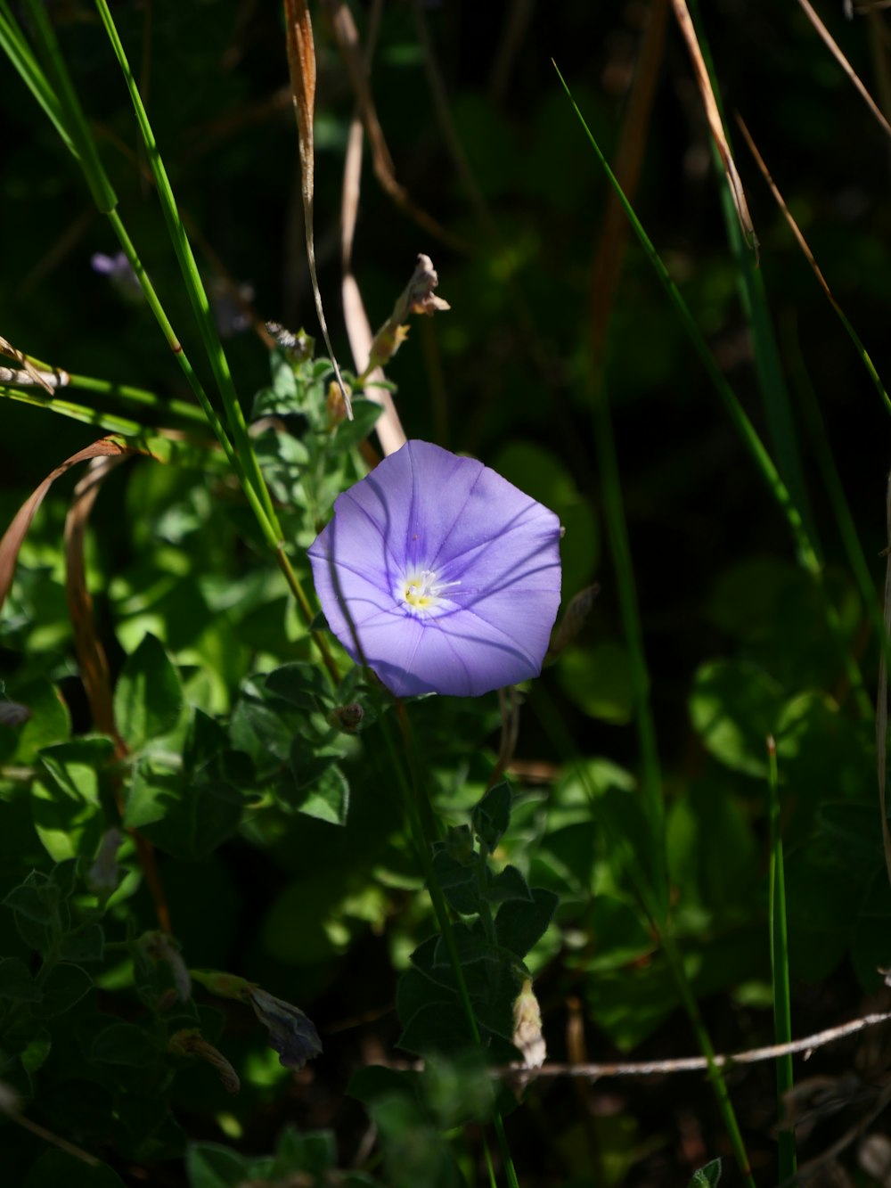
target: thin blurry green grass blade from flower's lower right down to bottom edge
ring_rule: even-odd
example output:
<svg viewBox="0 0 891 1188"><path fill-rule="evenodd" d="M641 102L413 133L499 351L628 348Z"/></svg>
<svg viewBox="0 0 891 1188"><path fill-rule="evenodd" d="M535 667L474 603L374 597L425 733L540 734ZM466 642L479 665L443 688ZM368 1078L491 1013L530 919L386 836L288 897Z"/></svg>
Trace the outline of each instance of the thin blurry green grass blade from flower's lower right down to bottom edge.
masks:
<svg viewBox="0 0 891 1188"><path fill-rule="evenodd" d="M708 1063L712 1089L718 1101L718 1108L721 1113L721 1120L725 1130L727 1131L727 1137L729 1138L731 1146L733 1148L734 1158L737 1159L737 1164L744 1177L746 1188L756 1188L754 1180L752 1178L752 1170L748 1164L746 1146L742 1140L733 1102L731 1101L731 1095L727 1089L727 1082L725 1081L722 1069L715 1064L715 1050L712 1043L712 1037L708 1034L708 1028L702 1019L699 1004L696 1003L696 998L690 987L690 981L683 963L683 956L677 948L669 928L661 918L661 897L653 891L650 879L640 864L640 859L634 853L627 836L613 826L613 822L606 814L601 815L598 813L598 792L592 784L588 769L579 754L575 741L567 729L565 722L555 709L541 682L535 685L530 703L545 734L550 738L557 753L563 758L565 766L573 770L579 777L579 781L588 797L588 803L592 807L592 815L596 823L602 828L611 852L621 855L621 860L630 873L634 891L640 901L640 905L650 920L653 935L656 936L659 943L659 949L665 958L665 963L668 965L674 979L681 1004L690 1020L690 1026L696 1036L700 1051Z"/></svg>

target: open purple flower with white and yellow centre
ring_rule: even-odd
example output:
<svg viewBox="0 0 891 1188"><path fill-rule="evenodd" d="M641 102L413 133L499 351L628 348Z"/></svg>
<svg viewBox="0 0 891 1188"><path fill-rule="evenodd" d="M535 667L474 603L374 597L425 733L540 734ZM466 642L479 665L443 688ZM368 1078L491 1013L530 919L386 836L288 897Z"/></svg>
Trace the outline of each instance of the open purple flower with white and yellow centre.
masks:
<svg viewBox="0 0 891 1188"><path fill-rule="evenodd" d="M560 535L481 462L410 441L337 497L309 557L331 631L392 693L479 696L541 672Z"/></svg>

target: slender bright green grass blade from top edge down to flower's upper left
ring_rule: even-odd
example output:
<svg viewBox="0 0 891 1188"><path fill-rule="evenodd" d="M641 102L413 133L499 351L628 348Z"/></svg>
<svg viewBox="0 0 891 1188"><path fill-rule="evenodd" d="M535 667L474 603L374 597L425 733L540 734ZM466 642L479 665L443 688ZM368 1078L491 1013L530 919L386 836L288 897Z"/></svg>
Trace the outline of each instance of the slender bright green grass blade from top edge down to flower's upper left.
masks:
<svg viewBox="0 0 891 1188"><path fill-rule="evenodd" d="M168 234L170 235L177 261L179 263L179 271L183 277L183 283L185 285L185 291L188 293L195 320L198 324L198 331L208 356L208 362L210 364L214 379L216 380L217 388L223 402L226 419L228 422L229 432L233 437L235 451L240 459L240 468L245 475L246 487L249 487L254 492L254 495L265 513L266 520L268 520L272 525L278 542L280 542L282 530L278 525L276 510L272 506L272 497L270 495L263 473L260 472L260 465L257 461L253 444L247 434L245 415L241 409L241 404L239 403L238 393L235 392L235 385L232 379L232 373L229 372L229 364L222 347L220 331L216 327L216 322L214 321L210 302L208 301L204 285L198 273L198 266L195 263L195 255L191 251L189 236L185 233L183 221L179 217L179 211L177 210L176 198L173 197L170 179L168 178L164 162L162 160L158 145L154 140L154 133L152 132L152 127L148 121L148 114L146 113L143 99L139 94L139 88L137 87L133 72L129 69L129 62L127 61L127 55L124 51L124 44L118 36L118 29L112 18L112 13L109 12L107 0L96 0L96 8L99 10L100 19L102 20L108 39L112 43L112 49L118 58L118 64L121 68L127 84L127 90L129 91L133 110L135 112L139 131L148 157L148 164L154 176L158 198L160 200L164 221L168 227Z"/></svg>

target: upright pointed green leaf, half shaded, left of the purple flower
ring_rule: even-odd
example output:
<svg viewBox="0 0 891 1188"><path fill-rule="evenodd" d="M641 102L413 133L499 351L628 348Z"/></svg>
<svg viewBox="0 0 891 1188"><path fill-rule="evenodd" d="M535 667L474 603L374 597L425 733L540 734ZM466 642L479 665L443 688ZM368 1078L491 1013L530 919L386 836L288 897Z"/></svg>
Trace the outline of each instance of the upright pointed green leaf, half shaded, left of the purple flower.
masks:
<svg viewBox="0 0 891 1188"><path fill-rule="evenodd" d="M169 733L183 706L179 674L154 636L127 657L114 690L114 716L133 751Z"/></svg>

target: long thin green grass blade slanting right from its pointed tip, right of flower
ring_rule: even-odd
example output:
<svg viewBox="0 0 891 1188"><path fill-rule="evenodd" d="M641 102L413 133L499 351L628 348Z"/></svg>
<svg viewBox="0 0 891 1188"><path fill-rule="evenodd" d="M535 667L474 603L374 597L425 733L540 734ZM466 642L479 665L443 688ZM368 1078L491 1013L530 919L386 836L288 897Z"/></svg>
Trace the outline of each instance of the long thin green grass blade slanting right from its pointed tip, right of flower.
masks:
<svg viewBox="0 0 891 1188"><path fill-rule="evenodd" d="M725 411L727 412L731 423L733 424L734 429L741 437L742 443L748 450L752 460L756 463L757 469L762 475L762 479L764 480L765 485L767 486L767 489L773 495L776 503L778 504L781 511L783 512L783 516L785 517L786 524L789 525L789 530L792 536L792 542L796 548L796 555L798 557L798 561L801 565L805 569L805 571L814 579L817 589L821 590L823 612L826 615L827 626L829 627L833 638L839 647L840 659L845 668L847 678L851 682L851 685L857 696L858 706L864 714L871 715L872 702L870 701L870 696L866 691L862 674L860 672L857 662L851 656L851 653L848 652L847 647L843 644L838 611L828 601L828 599L826 599L824 593L822 593L822 586L820 582L820 573L821 573L820 561L810 542L807 529L802 523L798 508L795 506L795 503L792 501L785 484L783 482L782 478L779 476L779 473L777 472L776 466L773 465L773 460L765 449L764 443L762 442L760 437L758 436L758 432L754 429L754 425L752 424L752 422L748 418L748 415L740 404L737 393L733 391L727 379L725 378L723 373L721 372L720 367L718 366L714 355L709 350L702 336L702 333L700 331L700 328L696 326L696 322L693 317L693 314L690 312L689 307L687 305L687 302L681 296L677 285L671 279L668 268L665 267L662 258L653 247L650 236L646 234L646 232L643 228L643 225L634 214L633 207L625 196L625 192L623 191L621 185L619 184L619 182L615 178L615 175L609 168L606 157L604 157L600 146L598 145L590 129L588 128L588 125L586 124L583 115L581 114L579 107L574 102L571 93L567 87L563 76L557 69L556 63L555 63L555 70L557 70L557 76L560 77L560 81L563 84L563 89L565 90L567 96L569 97L569 101L573 105L576 115L579 116L579 121L581 122L582 128L584 129L584 133L588 137L588 141L594 148L594 152L604 169L604 172L607 175L609 184L615 190L619 201L621 202L623 208L625 209L626 215L631 220L631 223L634 228L634 233L637 234L638 240L640 241L640 245L644 248L644 252L646 253L650 263L656 270L656 273L659 277L659 280L662 282L663 287L665 289L665 292L668 293L669 299L671 301L671 304L674 305L675 311L681 320L681 324L687 331L687 335L690 339L690 342L693 343L696 354L700 356L700 360L703 364L709 379L718 390L718 394L721 397Z"/></svg>

